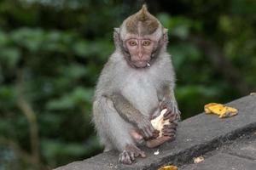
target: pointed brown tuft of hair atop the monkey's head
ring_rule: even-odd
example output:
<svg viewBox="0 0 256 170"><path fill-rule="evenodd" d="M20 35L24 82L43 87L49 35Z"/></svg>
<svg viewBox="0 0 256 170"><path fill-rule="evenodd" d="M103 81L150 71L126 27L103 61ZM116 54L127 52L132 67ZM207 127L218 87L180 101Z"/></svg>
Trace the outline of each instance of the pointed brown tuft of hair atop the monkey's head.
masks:
<svg viewBox="0 0 256 170"><path fill-rule="evenodd" d="M134 34L152 34L160 26L159 21L148 12L146 4L136 13L126 19L125 26L128 32Z"/></svg>

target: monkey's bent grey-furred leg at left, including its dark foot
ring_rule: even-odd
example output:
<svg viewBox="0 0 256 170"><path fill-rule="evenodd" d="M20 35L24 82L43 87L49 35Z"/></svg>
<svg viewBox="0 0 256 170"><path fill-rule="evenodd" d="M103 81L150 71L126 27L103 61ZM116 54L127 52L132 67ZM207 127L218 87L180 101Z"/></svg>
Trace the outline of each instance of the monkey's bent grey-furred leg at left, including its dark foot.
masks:
<svg viewBox="0 0 256 170"><path fill-rule="evenodd" d="M131 138L132 126L130 123L119 116L119 113L113 107L111 99L102 97L94 102L94 114L97 132L102 141L102 144L113 146L114 149L119 150L119 161L125 164L131 164L135 157L145 154L138 149L133 139ZM99 114L99 116L96 116Z"/></svg>

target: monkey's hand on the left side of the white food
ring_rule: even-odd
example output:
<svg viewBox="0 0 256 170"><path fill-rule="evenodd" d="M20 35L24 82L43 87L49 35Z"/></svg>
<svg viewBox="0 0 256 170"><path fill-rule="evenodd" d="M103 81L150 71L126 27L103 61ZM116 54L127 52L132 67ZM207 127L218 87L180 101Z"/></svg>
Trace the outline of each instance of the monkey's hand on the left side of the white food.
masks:
<svg viewBox="0 0 256 170"><path fill-rule="evenodd" d="M142 133L144 139L154 138L159 133L159 131L154 129L146 116L141 116L140 120L137 121L137 128Z"/></svg>

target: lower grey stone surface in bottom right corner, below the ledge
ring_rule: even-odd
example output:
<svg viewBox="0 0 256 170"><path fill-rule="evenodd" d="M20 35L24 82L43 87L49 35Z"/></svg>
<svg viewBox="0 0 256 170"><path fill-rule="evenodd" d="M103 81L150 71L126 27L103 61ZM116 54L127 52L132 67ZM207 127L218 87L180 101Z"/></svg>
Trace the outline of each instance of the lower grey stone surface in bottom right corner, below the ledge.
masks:
<svg viewBox="0 0 256 170"><path fill-rule="evenodd" d="M216 170L216 169L252 169L256 163L256 130L242 134L236 140L225 142L216 150L202 155L204 161L195 164L185 164L180 170ZM254 167L255 169L255 167Z"/></svg>

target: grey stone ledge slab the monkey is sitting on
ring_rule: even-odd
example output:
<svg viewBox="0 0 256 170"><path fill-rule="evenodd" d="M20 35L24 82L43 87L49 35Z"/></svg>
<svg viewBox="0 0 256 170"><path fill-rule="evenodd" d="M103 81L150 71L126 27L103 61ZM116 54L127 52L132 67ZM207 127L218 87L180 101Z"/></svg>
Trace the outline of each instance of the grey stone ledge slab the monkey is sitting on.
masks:
<svg viewBox="0 0 256 170"><path fill-rule="evenodd" d="M227 105L236 107L239 111L238 115L219 119L218 116L202 113L180 122L177 139L157 148L160 150L158 156L153 154L157 149L143 148L147 158L138 158L134 164L128 166L119 164L117 161L119 154L110 151L84 161L58 167L56 170L157 169L167 164L181 166L191 161L193 157L215 150L226 141L256 129L256 95L236 99Z"/></svg>

